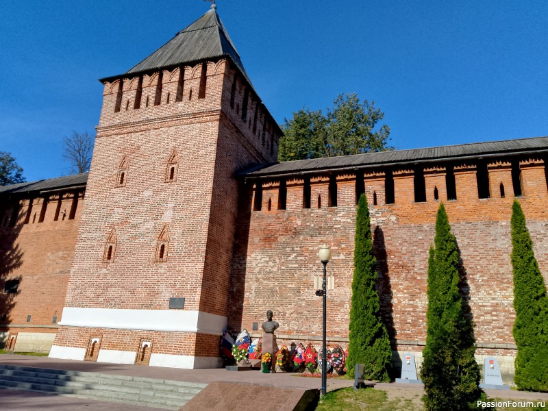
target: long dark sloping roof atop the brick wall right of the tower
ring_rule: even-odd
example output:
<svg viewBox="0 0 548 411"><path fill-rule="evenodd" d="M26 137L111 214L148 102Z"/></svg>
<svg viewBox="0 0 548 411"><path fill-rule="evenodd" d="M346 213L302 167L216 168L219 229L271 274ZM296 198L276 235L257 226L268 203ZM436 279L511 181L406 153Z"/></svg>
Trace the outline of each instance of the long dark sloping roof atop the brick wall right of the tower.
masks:
<svg viewBox="0 0 548 411"><path fill-rule="evenodd" d="M391 164L395 165L411 162L432 162L477 156L508 155L528 151L548 151L548 137L476 142L471 144L429 147L426 149L382 151L380 153L341 155L339 157L316 158L313 160L287 161L278 164L266 164L260 169L256 166L254 169L242 173L242 175L245 175L246 177L266 177L269 175L290 173L312 173L315 171L336 169L361 169L371 166L388 166Z"/></svg>

